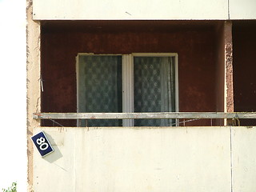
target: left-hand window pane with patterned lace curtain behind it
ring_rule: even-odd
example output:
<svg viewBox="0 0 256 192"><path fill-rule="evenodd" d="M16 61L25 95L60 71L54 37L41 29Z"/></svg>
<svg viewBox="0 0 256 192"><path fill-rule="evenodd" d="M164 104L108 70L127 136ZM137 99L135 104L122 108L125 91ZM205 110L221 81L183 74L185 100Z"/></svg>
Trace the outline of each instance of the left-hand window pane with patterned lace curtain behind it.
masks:
<svg viewBox="0 0 256 192"><path fill-rule="evenodd" d="M79 56L78 111L122 113L122 56ZM122 120L83 121L82 126L122 126Z"/></svg>

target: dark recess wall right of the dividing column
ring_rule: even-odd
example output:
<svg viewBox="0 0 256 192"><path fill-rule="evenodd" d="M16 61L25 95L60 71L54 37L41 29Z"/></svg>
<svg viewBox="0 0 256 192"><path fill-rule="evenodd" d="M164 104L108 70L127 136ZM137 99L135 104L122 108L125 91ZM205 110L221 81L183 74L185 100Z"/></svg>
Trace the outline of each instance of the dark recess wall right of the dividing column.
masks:
<svg viewBox="0 0 256 192"><path fill-rule="evenodd" d="M256 111L256 22L234 22L234 110ZM241 120L242 125L256 121Z"/></svg>

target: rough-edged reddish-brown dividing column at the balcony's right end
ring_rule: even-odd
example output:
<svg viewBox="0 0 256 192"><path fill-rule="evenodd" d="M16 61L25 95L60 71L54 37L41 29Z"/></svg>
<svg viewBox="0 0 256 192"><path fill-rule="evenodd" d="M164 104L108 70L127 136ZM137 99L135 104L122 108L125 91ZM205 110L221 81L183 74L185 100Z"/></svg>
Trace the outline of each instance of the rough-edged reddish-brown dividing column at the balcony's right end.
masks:
<svg viewBox="0 0 256 192"><path fill-rule="evenodd" d="M216 111L233 112L233 45L232 22L220 23L217 29L217 70L216 70ZM228 124L230 124L229 122ZM216 125L226 125L226 121L216 121Z"/></svg>

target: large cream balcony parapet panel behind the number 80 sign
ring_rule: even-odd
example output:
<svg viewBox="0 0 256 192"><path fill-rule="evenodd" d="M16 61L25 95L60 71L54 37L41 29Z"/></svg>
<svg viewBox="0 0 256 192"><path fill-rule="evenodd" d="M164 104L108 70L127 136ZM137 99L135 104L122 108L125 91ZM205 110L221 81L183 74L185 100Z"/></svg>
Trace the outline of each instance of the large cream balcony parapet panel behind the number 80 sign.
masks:
<svg viewBox="0 0 256 192"><path fill-rule="evenodd" d="M229 191L230 128L37 128L54 153L34 150L34 190Z"/></svg>

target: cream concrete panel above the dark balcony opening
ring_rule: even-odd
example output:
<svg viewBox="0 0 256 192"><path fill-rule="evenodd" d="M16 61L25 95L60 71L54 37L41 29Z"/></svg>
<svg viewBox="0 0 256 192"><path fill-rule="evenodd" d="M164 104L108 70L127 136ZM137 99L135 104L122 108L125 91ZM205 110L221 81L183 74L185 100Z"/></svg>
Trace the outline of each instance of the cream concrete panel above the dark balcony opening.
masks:
<svg viewBox="0 0 256 192"><path fill-rule="evenodd" d="M256 19L255 0L34 0L34 19Z"/></svg>

